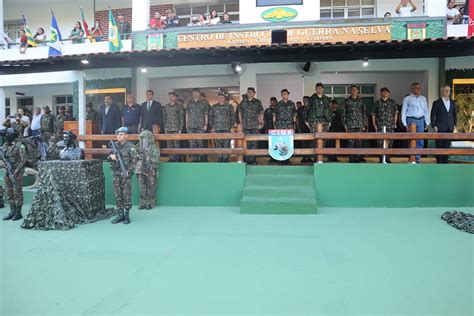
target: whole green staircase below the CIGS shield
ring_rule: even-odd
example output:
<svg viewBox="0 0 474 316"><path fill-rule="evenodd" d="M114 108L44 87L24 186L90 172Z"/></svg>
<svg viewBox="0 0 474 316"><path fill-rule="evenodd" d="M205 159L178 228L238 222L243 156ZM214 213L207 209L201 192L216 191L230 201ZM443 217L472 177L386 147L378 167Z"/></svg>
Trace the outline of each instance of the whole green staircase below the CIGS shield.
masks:
<svg viewBox="0 0 474 316"><path fill-rule="evenodd" d="M313 166L247 166L240 213L317 213L313 172Z"/></svg>

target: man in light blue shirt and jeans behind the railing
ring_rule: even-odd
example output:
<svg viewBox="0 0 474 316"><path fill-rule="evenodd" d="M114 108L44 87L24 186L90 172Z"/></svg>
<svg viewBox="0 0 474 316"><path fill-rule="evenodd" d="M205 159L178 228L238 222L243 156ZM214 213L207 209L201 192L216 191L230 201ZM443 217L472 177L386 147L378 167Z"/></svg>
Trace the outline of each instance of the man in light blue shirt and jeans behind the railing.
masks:
<svg viewBox="0 0 474 316"><path fill-rule="evenodd" d="M430 125L428 102L421 95L421 86L418 82L411 84L411 94L403 99L402 124L408 131L408 126L416 125L416 132L423 133ZM422 139L416 141L416 148L423 148ZM420 163L420 155L416 155L416 163Z"/></svg>

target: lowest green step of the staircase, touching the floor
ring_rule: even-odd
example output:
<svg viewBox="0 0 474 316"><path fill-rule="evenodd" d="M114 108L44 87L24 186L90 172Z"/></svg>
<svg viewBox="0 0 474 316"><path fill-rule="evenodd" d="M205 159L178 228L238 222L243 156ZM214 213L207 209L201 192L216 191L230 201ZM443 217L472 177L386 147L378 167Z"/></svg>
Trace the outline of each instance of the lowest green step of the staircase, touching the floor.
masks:
<svg viewBox="0 0 474 316"><path fill-rule="evenodd" d="M240 201L242 214L316 214L316 200L247 199Z"/></svg>

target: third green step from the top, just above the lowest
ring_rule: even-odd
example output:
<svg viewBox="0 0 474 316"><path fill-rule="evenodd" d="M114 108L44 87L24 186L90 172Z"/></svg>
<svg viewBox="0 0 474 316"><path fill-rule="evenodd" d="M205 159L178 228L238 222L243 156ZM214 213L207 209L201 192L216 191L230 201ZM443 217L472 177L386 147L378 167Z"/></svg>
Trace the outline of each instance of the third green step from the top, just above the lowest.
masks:
<svg viewBox="0 0 474 316"><path fill-rule="evenodd" d="M299 198L314 199L316 190L314 187L245 187L244 197L249 198Z"/></svg>

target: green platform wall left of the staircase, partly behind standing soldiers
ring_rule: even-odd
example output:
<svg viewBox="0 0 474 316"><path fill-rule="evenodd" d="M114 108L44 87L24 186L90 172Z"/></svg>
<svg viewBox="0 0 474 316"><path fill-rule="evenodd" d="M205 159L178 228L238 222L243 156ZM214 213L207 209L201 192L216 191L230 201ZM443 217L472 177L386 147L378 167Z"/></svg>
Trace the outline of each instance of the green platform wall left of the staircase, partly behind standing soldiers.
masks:
<svg viewBox="0 0 474 316"><path fill-rule="evenodd" d="M106 198L115 204L113 180L104 163ZM158 205L239 206L244 187L242 163L161 163L158 181ZM133 177L133 205L138 205L139 188Z"/></svg>

